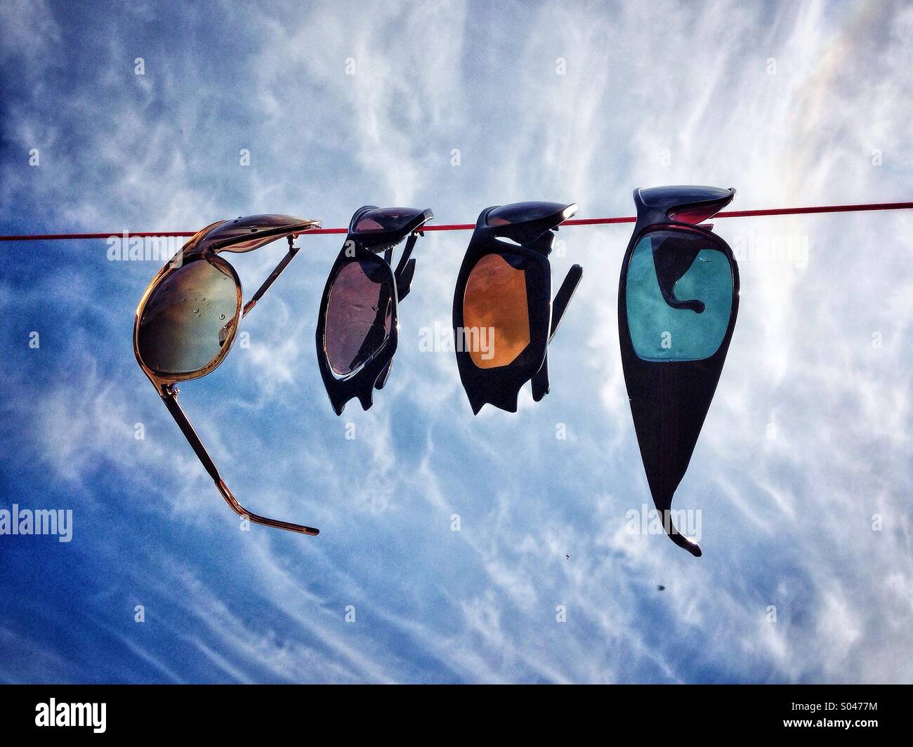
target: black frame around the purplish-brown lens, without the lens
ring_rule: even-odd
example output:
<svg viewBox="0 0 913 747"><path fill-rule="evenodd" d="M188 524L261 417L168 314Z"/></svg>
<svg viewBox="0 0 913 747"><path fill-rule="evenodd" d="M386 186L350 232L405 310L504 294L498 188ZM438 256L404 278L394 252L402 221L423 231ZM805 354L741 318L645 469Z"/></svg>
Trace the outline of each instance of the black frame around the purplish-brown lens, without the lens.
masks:
<svg viewBox="0 0 913 747"><path fill-rule="evenodd" d="M323 295L320 298L320 312L315 335L317 364L320 368L320 378L323 380L327 395L330 396L330 404L338 416L342 415L349 400L354 398L358 399L362 410L368 410L373 405L374 390L383 389L383 385L386 384L399 342L399 303L408 295L415 274L415 259L411 257L412 251L415 241L422 235L422 226L435 216L431 210L415 210L415 217L396 230L356 231L355 226L362 217L377 209L376 205L363 205L355 211L349 222L349 232L346 234L345 242L333 262ZM408 239L403 254L394 271L391 266L394 247L406 237ZM378 255L379 252L383 252L383 257ZM381 348L355 370L341 375L332 370L326 351L326 321L330 305L330 291L334 280L343 268L352 262L362 261L377 263L379 272L386 276L384 282L388 282L392 289L393 321L390 334Z"/></svg>

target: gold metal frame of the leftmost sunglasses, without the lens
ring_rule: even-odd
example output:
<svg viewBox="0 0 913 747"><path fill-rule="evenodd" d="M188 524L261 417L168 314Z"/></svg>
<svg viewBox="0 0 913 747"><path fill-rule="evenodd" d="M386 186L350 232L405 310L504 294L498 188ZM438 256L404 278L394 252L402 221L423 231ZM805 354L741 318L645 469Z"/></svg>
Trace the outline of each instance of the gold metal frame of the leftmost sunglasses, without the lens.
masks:
<svg viewBox="0 0 913 747"><path fill-rule="evenodd" d="M165 407L168 408L168 412L171 413L171 416L174 418L174 422L177 423L181 432L184 434L184 437L190 443L190 446L193 447L197 458L202 462L206 472L215 482L216 489L218 489L219 493L226 500L226 503L231 510L235 511L238 516L255 524L262 524L264 526L275 527L287 531L297 531L301 534L308 534L311 536L318 534L320 530L304 526L303 524L294 524L289 521L278 521L277 519L268 519L267 517L259 516L256 513L248 511L237 501L232 494L232 491L228 489L225 480L222 479L213 458L210 457L209 452L206 450L200 437L197 436L194 426L184 413L184 409L178 404L177 395L179 390L175 384L198 379L205 376L207 373L215 371L215 368L226 359L228 352L231 351L232 344L235 342L238 324L241 319L247 316L247 313L257 305L257 301L263 297L264 293L266 293L282 271L289 266L289 262L295 258L295 255L299 251L299 247L294 245L295 238L300 234L307 233L312 228L319 227L319 220L305 220L291 216L277 215L237 217L235 220L217 221L209 226L205 226L205 228L188 239L187 243L184 244L184 247L182 247L181 250L159 270L155 278L152 279L152 282L142 294L142 299L137 306L136 315L133 321L133 354L136 356L137 363L140 364L142 372L145 373L152 382L152 386L155 387L155 391L162 398ZM259 289L257 289L257 292L242 306L241 280L238 278L235 268L233 268L225 259L219 257L218 254L220 252L240 254L253 251L254 249L263 247L283 237L287 238L289 241L289 251L286 253L285 257L279 261L268 278L263 281ZM154 371L142 361L142 355L140 354L139 334L142 312L145 309L147 302L152 298L152 294L159 288L165 279L171 277L173 273L186 267L189 263L196 261L209 261L216 268L223 270L235 280L237 299L235 316L232 320L226 322L224 328L226 331L226 338L225 342L222 344L221 350L215 355L215 358L205 366L189 373L165 373Z"/></svg>

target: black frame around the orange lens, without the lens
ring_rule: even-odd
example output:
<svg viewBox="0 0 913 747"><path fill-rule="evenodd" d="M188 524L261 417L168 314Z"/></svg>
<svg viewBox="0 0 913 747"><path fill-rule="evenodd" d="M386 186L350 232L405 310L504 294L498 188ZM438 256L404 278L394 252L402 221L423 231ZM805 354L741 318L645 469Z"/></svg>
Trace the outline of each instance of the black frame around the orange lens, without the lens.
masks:
<svg viewBox="0 0 913 747"><path fill-rule="evenodd" d="M453 305L456 366L474 415L478 415L486 404L509 413L517 412L519 390L528 381L532 383L534 401L539 402L549 393L548 345L583 274L580 265L573 265L562 281L555 299L551 300L549 254L554 231L569 217L565 214L575 205L554 206L560 209L548 216L522 223L489 226L488 214L500 207L493 205L485 208L476 221L476 228L456 277ZM517 243L502 241L501 237ZM488 255L498 255L512 267L524 270L530 342L508 365L483 369L473 363L467 330L463 326L463 311L469 275L479 260ZM480 331L476 331L477 340L479 334ZM472 331L469 331L469 335L472 335Z"/></svg>

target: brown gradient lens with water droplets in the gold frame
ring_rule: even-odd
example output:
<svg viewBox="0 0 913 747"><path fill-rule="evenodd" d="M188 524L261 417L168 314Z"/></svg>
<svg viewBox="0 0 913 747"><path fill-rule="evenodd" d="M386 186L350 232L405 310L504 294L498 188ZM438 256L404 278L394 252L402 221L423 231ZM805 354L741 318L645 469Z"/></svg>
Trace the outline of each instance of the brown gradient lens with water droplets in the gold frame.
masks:
<svg viewBox="0 0 913 747"><path fill-rule="evenodd" d="M174 270L142 307L140 358L155 373L195 373L222 352L240 299L231 272L208 259Z"/></svg>

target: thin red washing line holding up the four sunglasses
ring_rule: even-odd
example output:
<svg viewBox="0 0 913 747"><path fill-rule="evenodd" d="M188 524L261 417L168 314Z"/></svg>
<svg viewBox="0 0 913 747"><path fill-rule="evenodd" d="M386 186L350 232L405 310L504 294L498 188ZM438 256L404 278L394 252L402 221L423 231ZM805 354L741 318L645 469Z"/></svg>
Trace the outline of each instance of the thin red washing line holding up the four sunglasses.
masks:
<svg viewBox="0 0 913 747"><path fill-rule="evenodd" d="M766 210L729 210L718 213L716 218L747 218L754 216L803 216L809 213L855 213L863 210L909 210L913 209L911 203L871 203L868 205L820 205L818 207L771 207ZM578 218L566 220L561 226L602 226L609 223L634 223L635 216L622 216L614 218ZM438 226L424 226L423 231L471 231L476 227L474 223L452 223ZM346 228L313 228L302 236L312 234L344 234ZM131 237L184 237L194 236L196 231L135 231ZM110 231L106 234L35 234L32 236L0 236L0 241L38 241L45 239L64 238L108 238L119 237L121 231Z"/></svg>

